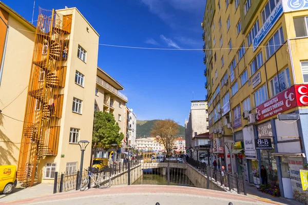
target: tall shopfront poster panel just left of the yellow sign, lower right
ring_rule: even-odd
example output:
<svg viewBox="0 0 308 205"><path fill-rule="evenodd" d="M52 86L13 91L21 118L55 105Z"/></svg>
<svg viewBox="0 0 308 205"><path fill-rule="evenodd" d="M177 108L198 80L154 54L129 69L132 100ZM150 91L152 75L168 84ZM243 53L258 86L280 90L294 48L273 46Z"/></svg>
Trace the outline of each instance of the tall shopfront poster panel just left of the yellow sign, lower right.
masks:
<svg viewBox="0 0 308 205"><path fill-rule="evenodd" d="M299 170L303 169L303 160L301 158L288 157L288 167L293 191L302 191L302 181Z"/></svg>

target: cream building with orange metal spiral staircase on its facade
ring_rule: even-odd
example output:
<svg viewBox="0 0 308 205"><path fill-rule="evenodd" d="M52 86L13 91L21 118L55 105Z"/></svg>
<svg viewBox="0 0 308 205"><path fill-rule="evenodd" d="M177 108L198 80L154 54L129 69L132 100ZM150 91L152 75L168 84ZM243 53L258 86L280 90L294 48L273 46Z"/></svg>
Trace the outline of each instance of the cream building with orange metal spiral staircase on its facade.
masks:
<svg viewBox="0 0 308 205"><path fill-rule="evenodd" d="M99 34L76 8L40 9L36 28L3 3L1 13L9 26L1 163L16 165L28 186L48 182L55 171L78 170L78 141L88 140L89 165Z"/></svg>

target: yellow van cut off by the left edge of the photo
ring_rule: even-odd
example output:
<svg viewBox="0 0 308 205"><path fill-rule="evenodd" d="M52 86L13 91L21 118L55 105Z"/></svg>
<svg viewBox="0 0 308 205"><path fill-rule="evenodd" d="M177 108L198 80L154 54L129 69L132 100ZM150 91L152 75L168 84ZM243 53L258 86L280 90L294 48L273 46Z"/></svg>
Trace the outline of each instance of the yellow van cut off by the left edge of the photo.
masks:
<svg viewBox="0 0 308 205"><path fill-rule="evenodd" d="M17 185L15 165L0 166L0 192L10 194Z"/></svg>

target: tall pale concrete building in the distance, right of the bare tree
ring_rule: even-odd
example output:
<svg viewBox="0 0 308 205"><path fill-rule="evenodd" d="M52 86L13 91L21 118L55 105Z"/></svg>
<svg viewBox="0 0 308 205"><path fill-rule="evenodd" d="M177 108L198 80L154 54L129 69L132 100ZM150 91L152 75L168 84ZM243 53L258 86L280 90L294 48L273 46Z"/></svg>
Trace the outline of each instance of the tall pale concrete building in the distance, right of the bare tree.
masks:
<svg viewBox="0 0 308 205"><path fill-rule="evenodd" d="M208 110L205 100L192 100L188 120L185 120L186 150L195 148L192 138L208 132Z"/></svg>

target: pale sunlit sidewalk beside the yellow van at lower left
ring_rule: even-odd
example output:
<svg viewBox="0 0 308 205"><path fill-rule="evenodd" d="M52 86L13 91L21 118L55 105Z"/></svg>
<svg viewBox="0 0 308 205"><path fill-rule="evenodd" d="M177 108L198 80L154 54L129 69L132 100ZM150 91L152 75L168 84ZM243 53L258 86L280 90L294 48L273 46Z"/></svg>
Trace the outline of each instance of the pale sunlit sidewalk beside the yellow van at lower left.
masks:
<svg viewBox="0 0 308 205"><path fill-rule="evenodd" d="M51 183L38 183L33 187L21 188L18 186L13 190L12 194L0 194L0 203L6 201L22 200L27 198L34 198L45 196L53 193L53 184Z"/></svg>

